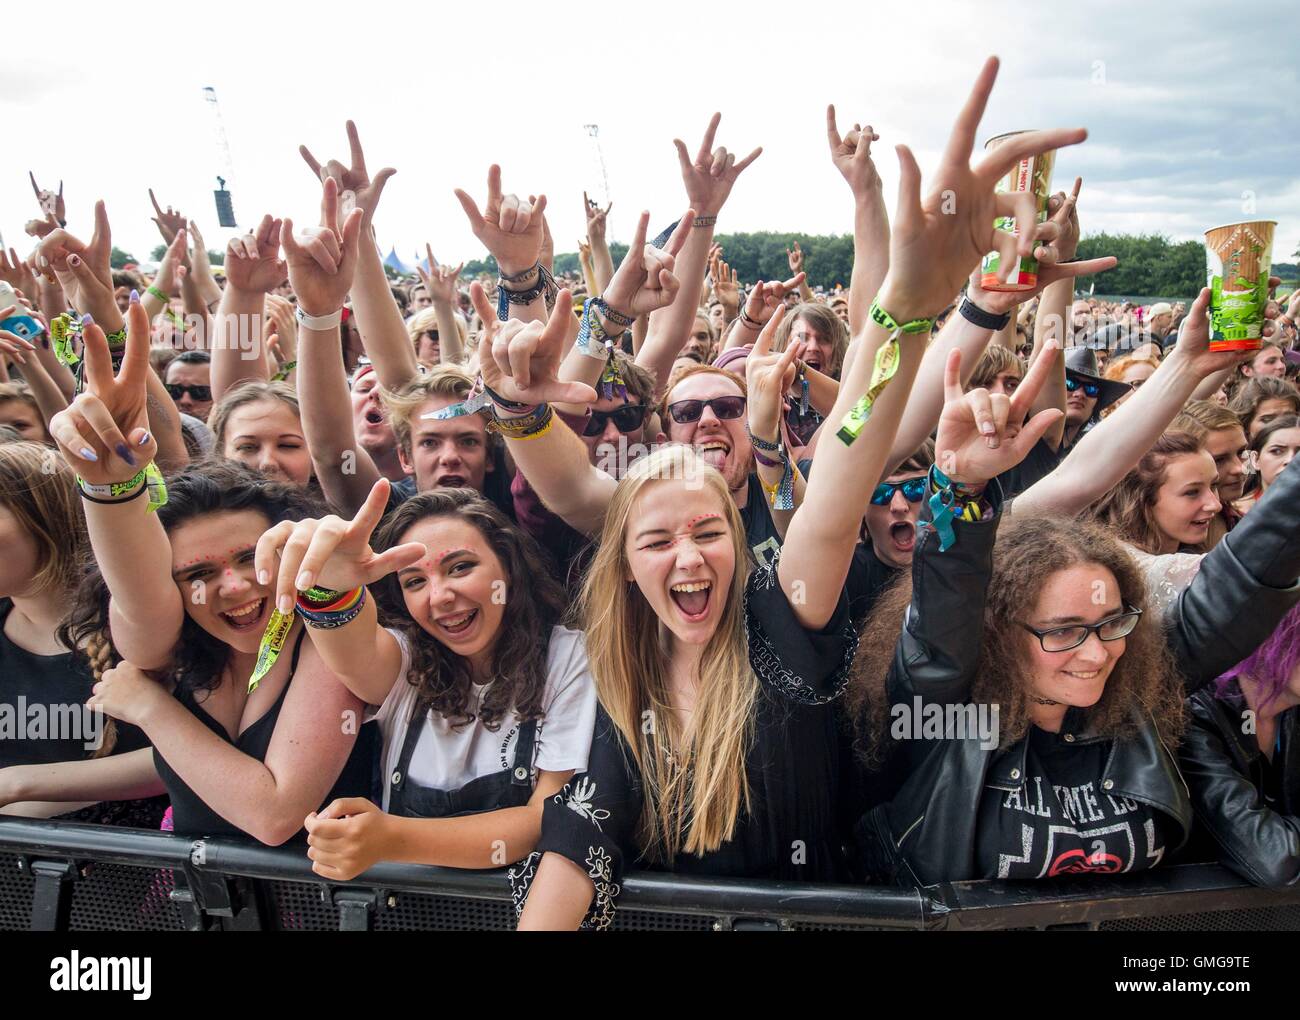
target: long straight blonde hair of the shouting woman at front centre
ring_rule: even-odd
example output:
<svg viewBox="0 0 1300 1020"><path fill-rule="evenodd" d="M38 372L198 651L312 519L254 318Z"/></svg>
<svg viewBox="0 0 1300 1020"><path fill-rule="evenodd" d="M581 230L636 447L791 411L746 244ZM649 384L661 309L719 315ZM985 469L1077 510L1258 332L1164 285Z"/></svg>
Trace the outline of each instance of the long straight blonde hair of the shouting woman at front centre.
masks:
<svg viewBox="0 0 1300 1020"><path fill-rule="evenodd" d="M627 580L627 534L642 492L692 478L702 482L723 511L736 572L718 629L699 659L696 707L684 730L672 709L671 659L659 618ZM640 843L647 856L668 864L679 852L718 850L734 834L741 812L750 810L745 756L753 742L758 678L749 664L745 631L746 554L745 526L722 474L688 446L663 446L619 481L582 587L580 606L595 690L645 785Z"/></svg>

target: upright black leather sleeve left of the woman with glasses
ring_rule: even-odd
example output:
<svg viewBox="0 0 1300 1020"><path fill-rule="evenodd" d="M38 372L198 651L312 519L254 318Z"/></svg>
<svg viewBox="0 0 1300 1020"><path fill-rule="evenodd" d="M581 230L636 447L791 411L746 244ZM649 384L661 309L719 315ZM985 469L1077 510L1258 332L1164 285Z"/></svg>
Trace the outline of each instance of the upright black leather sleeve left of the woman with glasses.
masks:
<svg viewBox="0 0 1300 1020"><path fill-rule="evenodd" d="M980 521L953 521L956 542L940 552L939 534L922 511L923 528L911 560L911 604L894 650L889 698L923 702L967 700L984 637L984 598L993 572L993 541L1001 516L1001 490L991 482L992 513Z"/></svg>

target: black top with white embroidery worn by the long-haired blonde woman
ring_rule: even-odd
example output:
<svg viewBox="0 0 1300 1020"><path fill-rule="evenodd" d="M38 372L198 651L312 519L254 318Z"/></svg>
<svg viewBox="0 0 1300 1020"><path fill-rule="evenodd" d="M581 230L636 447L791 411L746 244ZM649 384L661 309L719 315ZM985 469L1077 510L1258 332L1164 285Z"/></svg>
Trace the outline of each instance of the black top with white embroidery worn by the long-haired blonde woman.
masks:
<svg viewBox="0 0 1300 1020"><path fill-rule="evenodd" d="M805 630L772 563L746 585L745 620L759 695L746 756L751 810L742 811L733 838L702 856L679 854L671 865L638 846L641 776L602 708L588 771L546 802L537 850L511 869L516 910L523 910L545 852L568 858L592 877L597 891L585 928L612 923L623 871L633 864L676 874L785 881L846 876L836 835L840 748L833 700L848 682L857 648L848 599L841 595L823 630Z"/></svg>

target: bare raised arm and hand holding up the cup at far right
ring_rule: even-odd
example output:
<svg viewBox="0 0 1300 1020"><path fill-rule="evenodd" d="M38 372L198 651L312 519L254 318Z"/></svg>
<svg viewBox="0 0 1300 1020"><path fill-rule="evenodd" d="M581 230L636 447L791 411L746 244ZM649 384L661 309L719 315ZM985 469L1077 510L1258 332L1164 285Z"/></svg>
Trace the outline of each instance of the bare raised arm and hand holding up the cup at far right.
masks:
<svg viewBox="0 0 1300 1020"><path fill-rule="evenodd" d="M1156 373L1089 429L1056 470L1022 492L1017 511L1080 513L1138 465L1201 379L1245 360L1239 351L1209 350L1209 288L1201 290L1178 346Z"/></svg>

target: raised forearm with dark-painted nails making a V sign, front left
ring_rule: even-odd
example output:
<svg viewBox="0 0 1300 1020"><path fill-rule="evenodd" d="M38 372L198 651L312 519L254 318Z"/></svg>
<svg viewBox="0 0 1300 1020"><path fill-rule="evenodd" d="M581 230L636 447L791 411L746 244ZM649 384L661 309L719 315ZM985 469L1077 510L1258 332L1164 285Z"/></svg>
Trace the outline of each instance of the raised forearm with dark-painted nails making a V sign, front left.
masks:
<svg viewBox="0 0 1300 1020"><path fill-rule="evenodd" d="M103 330L90 325L82 335L86 391L53 417L49 434L83 486L94 487L94 499L83 505L91 548L112 594L113 644L142 668L160 669L172 660L185 607L172 580L172 543L151 512L153 492L143 491L150 482L140 474L157 453L146 427L148 316L133 300L116 378Z"/></svg>

